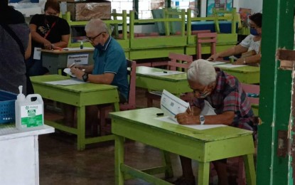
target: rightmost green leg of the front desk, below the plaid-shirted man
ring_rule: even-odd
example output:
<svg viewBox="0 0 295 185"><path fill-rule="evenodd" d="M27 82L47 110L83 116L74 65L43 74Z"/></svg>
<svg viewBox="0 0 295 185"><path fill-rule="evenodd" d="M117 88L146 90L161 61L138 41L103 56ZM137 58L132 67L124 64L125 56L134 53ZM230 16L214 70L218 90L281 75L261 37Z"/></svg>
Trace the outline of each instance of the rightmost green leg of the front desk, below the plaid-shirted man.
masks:
<svg viewBox="0 0 295 185"><path fill-rule="evenodd" d="M254 168L253 154L243 156L247 184L256 185L256 173Z"/></svg>

